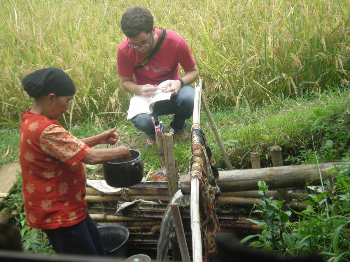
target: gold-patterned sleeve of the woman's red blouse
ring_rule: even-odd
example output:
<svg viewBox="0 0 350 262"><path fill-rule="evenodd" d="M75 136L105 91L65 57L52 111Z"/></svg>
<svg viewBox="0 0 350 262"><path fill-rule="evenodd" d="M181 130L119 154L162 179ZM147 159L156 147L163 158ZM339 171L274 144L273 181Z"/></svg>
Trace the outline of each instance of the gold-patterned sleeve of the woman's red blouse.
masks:
<svg viewBox="0 0 350 262"><path fill-rule="evenodd" d="M42 150L62 162L76 155L82 150L84 145L82 141L66 131L62 126L55 124L45 128L40 136Z"/></svg>

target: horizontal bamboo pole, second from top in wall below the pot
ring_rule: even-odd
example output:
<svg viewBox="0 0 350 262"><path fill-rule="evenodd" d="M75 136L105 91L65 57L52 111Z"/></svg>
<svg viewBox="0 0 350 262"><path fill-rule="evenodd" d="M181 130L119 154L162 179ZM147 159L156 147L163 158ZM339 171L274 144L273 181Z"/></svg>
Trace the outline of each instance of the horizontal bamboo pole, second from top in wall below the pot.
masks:
<svg viewBox="0 0 350 262"><path fill-rule="evenodd" d="M109 202L109 201L132 201L135 199L144 199L147 201L160 200L162 202L169 202L168 196L154 195L154 196L140 196L140 195L130 195L130 196L120 196L120 195L101 195L101 196L85 196L86 203L94 202Z"/></svg>

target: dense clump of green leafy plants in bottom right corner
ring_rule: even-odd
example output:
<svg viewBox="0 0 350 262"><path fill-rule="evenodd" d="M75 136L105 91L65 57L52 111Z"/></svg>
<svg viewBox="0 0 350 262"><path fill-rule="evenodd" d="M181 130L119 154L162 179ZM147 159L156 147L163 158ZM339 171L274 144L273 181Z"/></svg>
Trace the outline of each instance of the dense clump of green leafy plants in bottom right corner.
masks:
<svg viewBox="0 0 350 262"><path fill-rule="evenodd" d="M330 143L328 142L330 145ZM325 191L309 194L305 210L282 211L281 201L267 198L268 186L259 181L263 195L254 213L262 221L249 219L262 227L261 234L250 235L250 246L271 250L276 255L321 253L328 261L350 260L350 152L342 159L341 167L329 170L337 175L323 181ZM332 173L331 173L332 172Z"/></svg>

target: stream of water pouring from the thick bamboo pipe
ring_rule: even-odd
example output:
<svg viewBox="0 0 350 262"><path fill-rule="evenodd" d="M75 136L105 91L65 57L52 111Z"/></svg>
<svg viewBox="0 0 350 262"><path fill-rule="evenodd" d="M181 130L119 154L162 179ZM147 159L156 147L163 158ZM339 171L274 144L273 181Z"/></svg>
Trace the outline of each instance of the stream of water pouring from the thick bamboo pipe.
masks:
<svg viewBox="0 0 350 262"><path fill-rule="evenodd" d="M162 222L160 224L160 235L157 244L157 261L167 260L168 249L170 247L170 240L174 236L174 221L173 214L170 209L170 204L177 203L179 206L189 206L190 196L183 196L181 190L177 191L173 198L170 199L169 204L164 212Z"/></svg>

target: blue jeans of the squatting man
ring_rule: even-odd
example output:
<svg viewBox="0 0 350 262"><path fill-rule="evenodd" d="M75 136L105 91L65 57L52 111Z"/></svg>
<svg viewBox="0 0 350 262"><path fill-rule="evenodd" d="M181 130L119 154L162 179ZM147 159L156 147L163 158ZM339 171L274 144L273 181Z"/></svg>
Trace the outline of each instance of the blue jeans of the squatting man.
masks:
<svg viewBox="0 0 350 262"><path fill-rule="evenodd" d="M170 100L158 101L154 104L152 114L139 114L130 119L135 128L146 133L148 137L155 135L152 116L155 124L159 125L158 116L172 115L174 118L170 123L175 131L182 130L186 119L193 115L193 104L195 89L190 86L183 86L177 95L172 95Z"/></svg>

